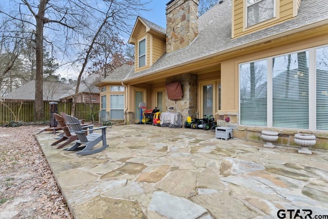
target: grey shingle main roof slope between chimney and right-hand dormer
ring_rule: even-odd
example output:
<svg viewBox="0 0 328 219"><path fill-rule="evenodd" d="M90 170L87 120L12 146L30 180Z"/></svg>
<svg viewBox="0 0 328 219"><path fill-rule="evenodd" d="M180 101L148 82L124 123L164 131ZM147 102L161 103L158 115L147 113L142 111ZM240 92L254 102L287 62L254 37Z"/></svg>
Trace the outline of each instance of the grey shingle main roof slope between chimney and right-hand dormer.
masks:
<svg viewBox="0 0 328 219"><path fill-rule="evenodd" d="M289 21L268 27L244 36L232 38L232 8L231 1L224 0L222 4L200 16L198 21L199 34L188 47L172 53L163 54L149 69L130 72L125 81L173 68L183 63L200 58L211 57L237 50L252 43L258 43L298 28L312 27L320 22L328 24L328 4L326 0L302 0L298 15Z"/></svg>

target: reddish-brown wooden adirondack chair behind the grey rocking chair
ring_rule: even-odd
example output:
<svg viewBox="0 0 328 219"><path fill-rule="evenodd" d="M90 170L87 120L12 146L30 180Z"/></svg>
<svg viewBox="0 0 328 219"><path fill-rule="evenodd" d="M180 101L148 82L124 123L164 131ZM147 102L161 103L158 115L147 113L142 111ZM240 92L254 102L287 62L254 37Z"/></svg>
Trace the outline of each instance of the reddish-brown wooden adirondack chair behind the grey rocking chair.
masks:
<svg viewBox="0 0 328 219"><path fill-rule="evenodd" d="M51 146L54 146L60 142L66 141L65 143L63 143L57 147L57 149L59 149L59 148L65 147L66 145L77 140L76 134L70 132L70 130L69 130L70 127L66 125L64 118L62 116L58 115L57 113L54 113L53 115L59 124L59 128L61 128L64 131L64 134L61 136L61 138L58 141L52 143ZM83 128L86 129L86 128L92 128L92 127L93 127L93 125L89 125L89 126L84 126Z"/></svg>

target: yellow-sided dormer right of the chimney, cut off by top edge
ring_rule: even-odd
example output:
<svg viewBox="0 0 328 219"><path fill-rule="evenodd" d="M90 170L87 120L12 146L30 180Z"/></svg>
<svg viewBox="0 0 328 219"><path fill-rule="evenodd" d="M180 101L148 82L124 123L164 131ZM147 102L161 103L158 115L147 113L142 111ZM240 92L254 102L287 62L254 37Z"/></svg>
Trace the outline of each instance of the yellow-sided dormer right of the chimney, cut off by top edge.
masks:
<svg viewBox="0 0 328 219"><path fill-rule="evenodd" d="M232 37L274 26L297 15L301 0L233 0Z"/></svg>

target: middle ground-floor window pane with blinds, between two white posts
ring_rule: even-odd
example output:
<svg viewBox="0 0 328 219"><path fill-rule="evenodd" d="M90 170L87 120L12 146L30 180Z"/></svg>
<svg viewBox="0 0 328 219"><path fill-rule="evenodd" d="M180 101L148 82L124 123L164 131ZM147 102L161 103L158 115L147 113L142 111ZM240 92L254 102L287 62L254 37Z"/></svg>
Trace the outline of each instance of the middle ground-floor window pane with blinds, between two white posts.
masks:
<svg viewBox="0 0 328 219"><path fill-rule="evenodd" d="M273 58L273 127L309 128L309 51Z"/></svg>

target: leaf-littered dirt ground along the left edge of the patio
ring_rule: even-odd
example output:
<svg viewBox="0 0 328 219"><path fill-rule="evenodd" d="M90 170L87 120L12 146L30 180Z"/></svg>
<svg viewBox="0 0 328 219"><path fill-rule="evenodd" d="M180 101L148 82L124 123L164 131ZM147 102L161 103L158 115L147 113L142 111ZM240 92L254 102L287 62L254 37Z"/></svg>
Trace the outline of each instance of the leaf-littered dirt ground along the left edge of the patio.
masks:
<svg viewBox="0 0 328 219"><path fill-rule="evenodd" d="M34 134L0 127L0 219L73 218Z"/></svg>

